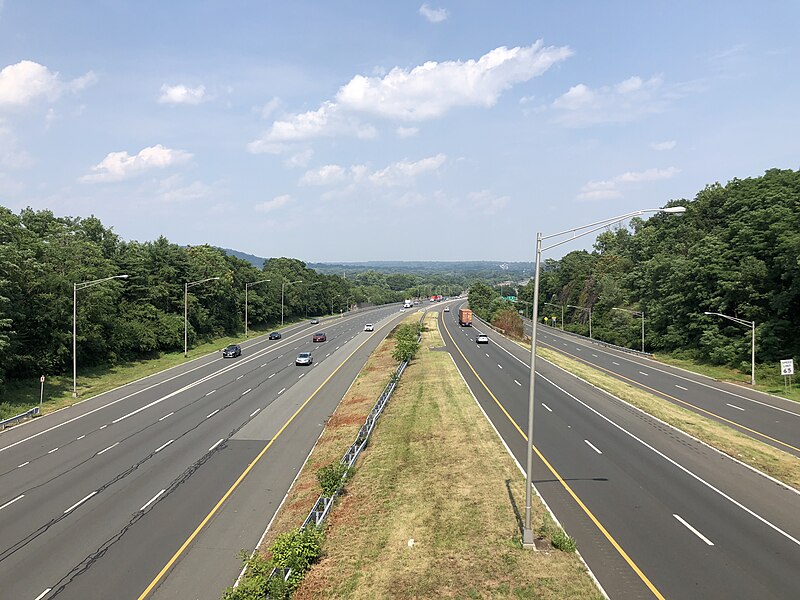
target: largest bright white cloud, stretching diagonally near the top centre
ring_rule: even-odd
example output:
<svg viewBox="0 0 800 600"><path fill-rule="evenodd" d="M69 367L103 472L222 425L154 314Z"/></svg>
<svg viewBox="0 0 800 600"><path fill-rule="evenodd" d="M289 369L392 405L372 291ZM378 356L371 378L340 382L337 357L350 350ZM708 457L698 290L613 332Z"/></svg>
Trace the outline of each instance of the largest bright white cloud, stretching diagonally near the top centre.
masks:
<svg viewBox="0 0 800 600"><path fill-rule="evenodd" d="M503 91L547 71L572 55L566 46L501 46L478 60L426 62L395 67L385 77L356 75L336 95L351 111L389 119L421 121L457 106L493 106Z"/></svg>

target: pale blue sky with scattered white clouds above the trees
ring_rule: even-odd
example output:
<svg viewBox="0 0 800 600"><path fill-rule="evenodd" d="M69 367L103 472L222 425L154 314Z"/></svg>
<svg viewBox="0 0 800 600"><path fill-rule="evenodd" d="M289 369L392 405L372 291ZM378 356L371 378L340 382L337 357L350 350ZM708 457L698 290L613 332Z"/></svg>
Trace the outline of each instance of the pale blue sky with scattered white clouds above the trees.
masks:
<svg viewBox="0 0 800 600"><path fill-rule="evenodd" d="M307 262L530 261L537 232L800 168L798 23L795 0L0 0L0 205Z"/></svg>

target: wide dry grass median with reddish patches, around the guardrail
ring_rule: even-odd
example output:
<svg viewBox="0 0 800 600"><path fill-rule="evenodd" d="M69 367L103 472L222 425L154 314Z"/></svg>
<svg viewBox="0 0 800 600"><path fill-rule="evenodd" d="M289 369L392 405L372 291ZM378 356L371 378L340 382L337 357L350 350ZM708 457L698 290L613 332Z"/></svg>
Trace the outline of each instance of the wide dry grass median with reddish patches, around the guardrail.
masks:
<svg viewBox="0 0 800 600"><path fill-rule="evenodd" d="M421 349L331 513L323 558L293 597L602 598L574 553L549 545L540 552L522 549L525 479L449 354L431 350L443 346L435 314L425 324ZM383 361L391 351L387 346L374 358ZM365 404L372 405L386 381L376 375L374 370L364 374L332 423L351 418L352 412L340 410L349 409L353 393L368 396ZM370 379L380 380L379 385L366 393ZM287 514L276 520L273 537L300 524L319 493L312 484L314 472L341 456L356 429L335 451L328 441L341 429L326 429L290 493ZM295 510L301 500L303 510ZM538 501L534 523L553 538L563 536ZM569 543L564 547L571 549Z"/></svg>

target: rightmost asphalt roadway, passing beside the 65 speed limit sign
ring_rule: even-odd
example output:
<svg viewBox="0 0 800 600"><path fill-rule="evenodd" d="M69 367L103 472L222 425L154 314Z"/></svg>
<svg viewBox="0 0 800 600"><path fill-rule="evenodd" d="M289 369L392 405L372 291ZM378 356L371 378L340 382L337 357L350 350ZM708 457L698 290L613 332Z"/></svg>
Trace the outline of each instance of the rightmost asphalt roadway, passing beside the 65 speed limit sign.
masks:
<svg viewBox="0 0 800 600"><path fill-rule="evenodd" d="M529 323L526 320L528 335ZM796 402L715 381L552 327L538 328L538 343L800 457L800 406Z"/></svg>

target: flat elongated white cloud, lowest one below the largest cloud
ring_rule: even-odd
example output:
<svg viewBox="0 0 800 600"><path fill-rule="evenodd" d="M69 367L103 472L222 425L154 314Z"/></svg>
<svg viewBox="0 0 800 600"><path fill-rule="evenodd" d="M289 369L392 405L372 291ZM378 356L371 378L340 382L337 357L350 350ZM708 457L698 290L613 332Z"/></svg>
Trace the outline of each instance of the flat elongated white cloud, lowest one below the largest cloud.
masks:
<svg viewBox="0 0 800 600"><path fill-rule="evenodd" d="M369 184L375 187L410 186L419 175L439 170L446 161L447 156L437 154L415 162L398 161L377 171L370 171L366 165L353 165L349 168L341 165L325 165L307 171L299 184L329 187L357 184Z"/></svg>

